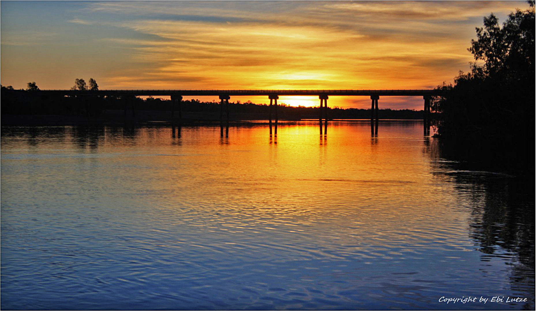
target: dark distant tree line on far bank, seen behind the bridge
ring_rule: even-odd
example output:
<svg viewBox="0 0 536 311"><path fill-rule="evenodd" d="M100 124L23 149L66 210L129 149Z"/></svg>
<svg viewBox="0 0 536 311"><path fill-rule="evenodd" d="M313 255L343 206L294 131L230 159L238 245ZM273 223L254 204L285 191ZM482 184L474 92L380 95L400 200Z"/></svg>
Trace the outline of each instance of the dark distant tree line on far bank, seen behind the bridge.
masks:
<svg viewBox="0 0 536 311"><path fill-rule="evenodd" d="M102 116L106 110L123 110L125 100L120 96L38 96L33 91L39 90L35 82L29 82L25 92L11 92L13 87L2 86L2 114L58 114L58 115L85 115ZM99 86L91 78L88 83L84 79L76 79L71 90L98 90ZM146 99L135 97L133 101L137 111L170 111L172 110L171 100L153 98ZM278 113L281 119L316 119L318 118L318 107L288 106L278 105ZM132 108L128 105L128 110ZM181 109L184 112L219 112L219 102L200 102L198 99L182 100ZM255 104L249 100L245 103L229 102L230 113L250 113L265 114L267 117L270 107L266 104ZM404 110L379 110L382 119L422 119L422 111L410 109ZM370 109L359 108L329 108L329 118L331 119L369 119Z"/></svg>

